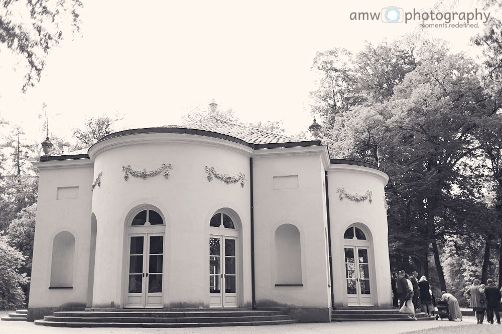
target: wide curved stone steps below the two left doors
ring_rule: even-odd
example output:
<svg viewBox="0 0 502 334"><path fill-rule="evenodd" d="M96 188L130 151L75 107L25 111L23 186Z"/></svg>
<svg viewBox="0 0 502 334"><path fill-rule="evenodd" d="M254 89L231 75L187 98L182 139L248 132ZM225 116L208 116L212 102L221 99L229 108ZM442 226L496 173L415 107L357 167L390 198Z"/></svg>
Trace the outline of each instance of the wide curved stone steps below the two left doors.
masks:
<svg viewBox="0 0 502 334"><path fill-rule="evenodd" d="M298 320L280 311L253 311L232 309L195 310L85 310L61 311L35 320L35 324L52 327L209 327L209 326L257 326L289 324Z"/></svg>

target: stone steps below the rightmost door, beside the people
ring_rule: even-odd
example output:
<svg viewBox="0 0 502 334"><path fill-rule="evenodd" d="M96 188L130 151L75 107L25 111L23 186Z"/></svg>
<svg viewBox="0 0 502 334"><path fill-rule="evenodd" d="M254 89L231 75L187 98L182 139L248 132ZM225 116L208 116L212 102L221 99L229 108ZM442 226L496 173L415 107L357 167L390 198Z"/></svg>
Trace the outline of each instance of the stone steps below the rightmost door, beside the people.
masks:
<svg viewBox="0 0 502 334"><path fill-rule="evenodd" d="M434 320L426 313L415 313L419 320ZM415 321L407 313L400 313L398 308L382 306L338 307L331 311L331 321Z"/></svg>

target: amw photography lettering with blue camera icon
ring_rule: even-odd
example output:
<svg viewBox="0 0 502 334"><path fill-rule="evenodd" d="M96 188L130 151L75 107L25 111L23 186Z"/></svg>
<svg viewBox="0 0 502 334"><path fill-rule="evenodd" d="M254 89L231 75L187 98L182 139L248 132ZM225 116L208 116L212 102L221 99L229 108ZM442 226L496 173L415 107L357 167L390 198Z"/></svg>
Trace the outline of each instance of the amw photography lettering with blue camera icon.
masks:
<svg viewBox="0 0 502 334"><path fill-rule="evenodd" d="M413 12L405 12L402 8L389 6L380 12L352 12L349 15L351 21L376 21L384 23L409 23L420 22L421 28L477 28L478 23L487 23L491 13L479 11L473 12L436 12L413 9Z"/></svg>

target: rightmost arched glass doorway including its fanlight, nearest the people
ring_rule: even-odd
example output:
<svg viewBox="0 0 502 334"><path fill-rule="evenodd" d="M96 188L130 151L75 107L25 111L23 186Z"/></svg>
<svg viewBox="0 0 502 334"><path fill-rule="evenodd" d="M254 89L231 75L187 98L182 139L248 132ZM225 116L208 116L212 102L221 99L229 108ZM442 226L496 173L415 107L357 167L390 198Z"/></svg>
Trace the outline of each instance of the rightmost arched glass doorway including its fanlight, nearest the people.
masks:
<svg viewBox="0 0 502 334"><path fill-rule="evenodd" d="M373 305L368 233L358 225L350 225L343 234L343 245L348 306Z"/></svg>

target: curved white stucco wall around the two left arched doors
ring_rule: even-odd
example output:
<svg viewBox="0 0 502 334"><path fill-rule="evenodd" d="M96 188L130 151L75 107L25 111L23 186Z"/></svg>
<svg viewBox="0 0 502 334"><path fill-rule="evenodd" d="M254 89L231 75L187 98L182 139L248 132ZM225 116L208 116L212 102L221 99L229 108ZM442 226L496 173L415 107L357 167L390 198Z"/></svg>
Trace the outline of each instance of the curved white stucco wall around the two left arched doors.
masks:
<svg viewBox="0 0 502 334"><path fill-rule="evenodd" d="M250 306L249 181L242 188L215 178L209 182L205 174L208 166L231 176L241 172L248 179L250 149L237 145L201 136L145 134L106 140L93 149L107 149L96 153L91 149L94 173L103 173L92 205L97 219L94 307L124 305L129 260L124 253L125 220L140 204L158 207L166 218L163 290L164 305L172 308L208 307L209 220L218 209L233 210L241 223L239 306ZM122 166L151 171L163 163L172 164L167 180L162 174L124 180Z"/></svg>

